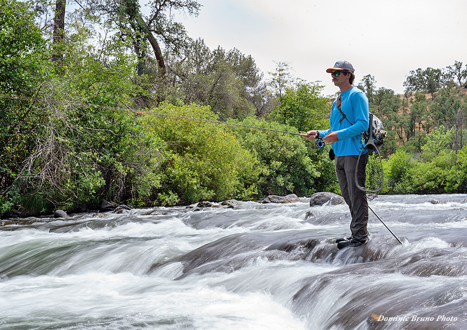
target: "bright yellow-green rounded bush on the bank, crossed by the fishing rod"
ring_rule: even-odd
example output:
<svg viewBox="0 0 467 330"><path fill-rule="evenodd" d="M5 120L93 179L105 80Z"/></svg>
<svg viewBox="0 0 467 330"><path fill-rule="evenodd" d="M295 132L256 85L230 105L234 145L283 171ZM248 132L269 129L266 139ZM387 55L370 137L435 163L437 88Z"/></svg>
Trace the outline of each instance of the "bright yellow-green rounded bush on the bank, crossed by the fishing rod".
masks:
<svg viewBox="0 0 467 330"><path fill-rule="evenodd" d="M160 203L244 199L256 193L261 168L229 128L171 117L217 120L209 107L163 103L156 112L170 115L145 118L147 130L167 143Z"/></svg>

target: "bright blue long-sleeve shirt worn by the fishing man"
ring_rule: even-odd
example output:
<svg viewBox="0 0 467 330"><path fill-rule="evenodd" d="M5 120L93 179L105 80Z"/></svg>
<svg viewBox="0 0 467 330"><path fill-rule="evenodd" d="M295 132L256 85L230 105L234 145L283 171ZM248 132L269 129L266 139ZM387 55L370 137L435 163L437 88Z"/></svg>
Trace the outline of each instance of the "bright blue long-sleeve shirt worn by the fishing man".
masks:
<svg viewBox="0 0 467 330"><path fill-rule="evenodd" d="M341 111L346 115L340 123L342 114L337 109L336 101L331 109L331 128L318 130L319 135L324 137L329 132L337 132L338 140L333 144L336 156L358 156L363 149L361 133L368 129L369 113L368 99L357 87L341 93Z"/></svg>

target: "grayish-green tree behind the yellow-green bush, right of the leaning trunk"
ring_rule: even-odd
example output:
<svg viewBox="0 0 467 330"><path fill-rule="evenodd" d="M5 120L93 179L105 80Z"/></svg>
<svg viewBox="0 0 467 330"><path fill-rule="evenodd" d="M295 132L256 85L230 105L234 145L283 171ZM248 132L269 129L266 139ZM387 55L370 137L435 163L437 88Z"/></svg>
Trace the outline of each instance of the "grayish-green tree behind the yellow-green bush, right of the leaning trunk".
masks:
<svg viewBox="0 0 467 330"><path fill-rule="evenodd" d="M198 39L184 57L168 52L167 58L169 99L209 105L222 119L245 117L261 109L266 90L251 56L220 46L211 51Z"/></svg>

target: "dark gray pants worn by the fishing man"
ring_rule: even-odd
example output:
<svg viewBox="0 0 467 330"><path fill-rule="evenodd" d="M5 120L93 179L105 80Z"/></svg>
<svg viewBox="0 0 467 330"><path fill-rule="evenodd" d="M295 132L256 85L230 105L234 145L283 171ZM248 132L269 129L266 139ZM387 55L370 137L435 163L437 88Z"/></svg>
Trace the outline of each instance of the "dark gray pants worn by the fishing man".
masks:
<svg viewBox="0 0 467 330"><path fill-rule="evenodd" d="M368 154L365 159L363 156L360 162L363 166L359 166L357 173L358 183L360 186L365 185L365 165L368 161ZM355 166L357 166L358 156L336 156L334 160L334 168L336 169L339 187L341 188L342 197L349 206L352 221L350 222L350 232L352 237L358 241L365 241L368 238L368 200L365 192L357 188L355 184Z"/></svg>

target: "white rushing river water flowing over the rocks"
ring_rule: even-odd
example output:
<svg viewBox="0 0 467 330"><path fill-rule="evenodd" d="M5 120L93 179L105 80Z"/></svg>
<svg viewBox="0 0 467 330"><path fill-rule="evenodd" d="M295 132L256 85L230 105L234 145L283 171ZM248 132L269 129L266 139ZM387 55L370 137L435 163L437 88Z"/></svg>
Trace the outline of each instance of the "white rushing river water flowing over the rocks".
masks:
<svg viewBox="0 0 467 330"><path fill-rule="evenodd" d="M5 225L0 329L467 329L467 195L369 204L402 245L306 198Z"/></svg>

